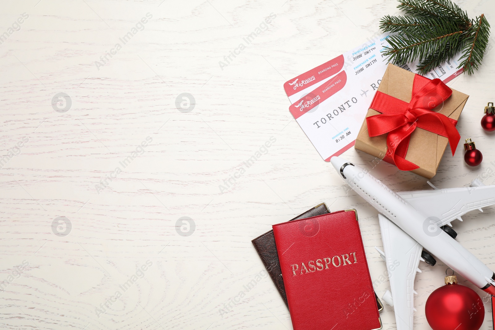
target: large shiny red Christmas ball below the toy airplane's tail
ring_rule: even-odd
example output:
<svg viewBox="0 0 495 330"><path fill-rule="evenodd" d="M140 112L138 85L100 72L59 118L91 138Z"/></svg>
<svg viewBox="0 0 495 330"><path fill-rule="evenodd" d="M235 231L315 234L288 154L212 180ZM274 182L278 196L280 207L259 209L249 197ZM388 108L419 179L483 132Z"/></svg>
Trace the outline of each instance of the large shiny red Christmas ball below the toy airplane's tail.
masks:
<svg viewBox="0 0 495 330"><path fill-rule="evenodd" d="M425 305L426 320L433 330L479 330L485 319L480 296L446 276L445 285L430 294Z"/></svg>

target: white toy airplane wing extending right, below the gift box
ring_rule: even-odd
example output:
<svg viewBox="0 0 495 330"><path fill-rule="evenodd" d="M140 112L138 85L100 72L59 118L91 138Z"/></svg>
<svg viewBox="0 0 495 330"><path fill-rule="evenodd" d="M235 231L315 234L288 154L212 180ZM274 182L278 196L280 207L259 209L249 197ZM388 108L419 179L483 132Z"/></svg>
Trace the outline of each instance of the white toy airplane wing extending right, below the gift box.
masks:
<svg viewBox="0 0 495 330"><path fill-rule="evenodd" d="M495 186L485 186L475 179L471 187L403 191L398 195L407 200L416 210L429 217L439 227L450 224L469 211L495 204Z"/></svg>

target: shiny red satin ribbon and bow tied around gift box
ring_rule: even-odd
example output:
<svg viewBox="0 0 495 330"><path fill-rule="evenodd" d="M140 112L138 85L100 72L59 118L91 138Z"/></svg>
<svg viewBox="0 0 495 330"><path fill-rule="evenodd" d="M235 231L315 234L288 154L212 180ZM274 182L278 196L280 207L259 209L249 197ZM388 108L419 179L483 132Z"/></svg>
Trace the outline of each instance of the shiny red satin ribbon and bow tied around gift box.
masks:
<svg viewBox="0 0 495 330"><path fill-rule="evenodd" d="M457 121L432 111L451 94L452 90L440 79L430 80L418 74L414 76L412 97L409 103L376 92L370 108L381 114L366 118L366 123L370 137L388 133L387 147L389 149L384 160L395 164L402 171L419 168L405 159L411 134L416 127L446 137L453 156L460 140L460 135L455 129Z"/></svg>

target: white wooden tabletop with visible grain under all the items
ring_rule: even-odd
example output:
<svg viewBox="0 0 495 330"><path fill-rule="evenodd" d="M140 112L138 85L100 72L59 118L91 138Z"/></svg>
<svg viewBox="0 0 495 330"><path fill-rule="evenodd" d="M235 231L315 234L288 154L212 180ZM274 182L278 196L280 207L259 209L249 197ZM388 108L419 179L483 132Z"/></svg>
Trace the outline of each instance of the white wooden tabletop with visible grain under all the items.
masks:
<svg viewBox="0 0 495 330"><path fill-rule="evenodd" d="M457 2L495 24L493 1ZM264 267L251 239L322 201L358 210L380 279L377 212L346 194L292 119L282 85L396 12L394 0L4 0L0 143L12 157L1 168L1 329L292 329L271 280L257 278ZM470 95L458 128L484 160L470 168L462 145L454 157L447 148L438 187L495 183L495 136L479 124L495 100L494 61L489 51L480 71L448 84ZM384 162L372 174L397 190L429 188ZM454 229L495 270L494 216L475 211ZM420 268L415 329L430 329L425 301L446 267ZM395 328L388 306L382 321Z"/></svg>

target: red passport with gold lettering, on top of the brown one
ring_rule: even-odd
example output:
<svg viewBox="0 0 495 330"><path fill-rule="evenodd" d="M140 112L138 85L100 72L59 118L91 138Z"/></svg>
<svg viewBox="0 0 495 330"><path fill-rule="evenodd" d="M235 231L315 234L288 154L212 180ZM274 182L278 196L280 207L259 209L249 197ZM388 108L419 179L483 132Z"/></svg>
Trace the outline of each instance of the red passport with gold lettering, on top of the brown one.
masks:
<svg viewBox="0 0 495 330"><path fill-rule="evenodd" d="M274 225L294 330L382 328L356 210Z"/></svg>

